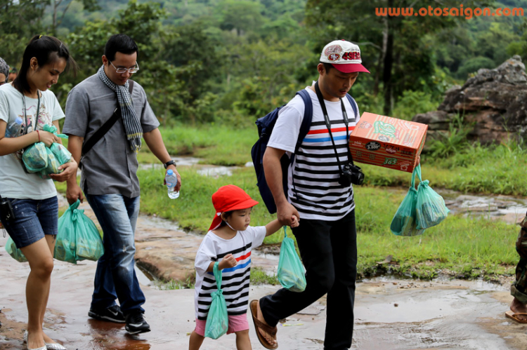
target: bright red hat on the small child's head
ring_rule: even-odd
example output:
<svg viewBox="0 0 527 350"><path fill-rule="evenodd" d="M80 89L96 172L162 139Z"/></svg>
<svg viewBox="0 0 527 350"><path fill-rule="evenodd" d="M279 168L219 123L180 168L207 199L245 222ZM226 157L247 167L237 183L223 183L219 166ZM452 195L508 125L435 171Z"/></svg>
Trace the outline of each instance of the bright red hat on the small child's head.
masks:
<svg viewBox="0 0 527 350"><path fill-rule="evenodd" d="M216 216L212 220L209 231L217 229L221 224L221 213L230 210L252 208L258 204L243 189L233 184L222 186L212 195L212 205L216 209Z"/></svg>

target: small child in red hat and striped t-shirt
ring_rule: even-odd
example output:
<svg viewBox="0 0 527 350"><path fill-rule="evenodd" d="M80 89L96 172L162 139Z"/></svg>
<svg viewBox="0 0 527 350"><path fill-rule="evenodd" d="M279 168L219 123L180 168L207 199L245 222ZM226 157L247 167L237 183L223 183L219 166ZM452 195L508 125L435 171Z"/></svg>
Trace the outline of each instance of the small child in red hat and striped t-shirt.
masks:
<svg viewBox="0 0 527 350"><path fill-rule="evenodd" d="M196 253L195 311L196 328L190 335L189 350L200 349L205 334L207 314L216 288L212 269L219 261L223 296L228 312L227 334L235 333L236 349L252 349L247 322L251 250L274 234L282 225L273 220L266 226L251 227L251 210L258 204L243 189L233 184L220 187L212 195L216 217ZM299 225L292 217L292 227Z"/></svg>

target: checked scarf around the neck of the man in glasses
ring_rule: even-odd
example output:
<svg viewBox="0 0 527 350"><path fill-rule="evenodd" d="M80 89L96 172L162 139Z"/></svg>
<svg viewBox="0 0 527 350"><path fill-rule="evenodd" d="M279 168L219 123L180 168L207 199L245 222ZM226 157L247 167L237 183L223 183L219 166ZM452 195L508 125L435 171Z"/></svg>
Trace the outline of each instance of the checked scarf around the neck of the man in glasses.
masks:
<svg viewBox="0 0 527 350"><path fill-rule="evenodd" d="M124 85L117 85L111 81L106 73L104 72L104 65L101 66L97 72L100 80L117 93L117 102L119 102L119 108L121 109L122 121L124 123L124 130L126 131L126 138L130 144L130 149L135 154L141 149L141 137L143 137L143 128L139 123L136 111L131 102L131 95L128 90L129 82L126 81Z"/></svg>

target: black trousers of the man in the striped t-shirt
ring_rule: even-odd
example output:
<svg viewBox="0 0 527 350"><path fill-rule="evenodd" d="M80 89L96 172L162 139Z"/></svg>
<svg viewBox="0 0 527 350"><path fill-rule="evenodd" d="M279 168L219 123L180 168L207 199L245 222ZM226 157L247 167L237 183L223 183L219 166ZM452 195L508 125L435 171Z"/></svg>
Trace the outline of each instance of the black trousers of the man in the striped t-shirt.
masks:
<svg viewBox="0 0 527 350"><path fill-rule="evenodd" d="M302 219L292 229L306 267L306 290L282 288L260 299L263 318L274 326L327 293L325 350L343 350L353 337L353 302L357 277L355 210L337 221Z"/></svg>

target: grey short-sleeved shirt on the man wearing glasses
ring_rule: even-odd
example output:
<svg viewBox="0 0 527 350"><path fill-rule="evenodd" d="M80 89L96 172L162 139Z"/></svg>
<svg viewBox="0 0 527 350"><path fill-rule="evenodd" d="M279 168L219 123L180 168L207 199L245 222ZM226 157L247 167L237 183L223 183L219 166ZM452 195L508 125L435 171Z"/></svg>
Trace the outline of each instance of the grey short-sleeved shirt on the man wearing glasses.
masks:
<svg viewBox="0 0 527 350"><path fill-rule="evenodd" d="M146 99L145 90L134 83L131 95L143 133L160 126ZM118 107L117 94L97 74L72 88L67 96L63 133L84 137L84 142L110 119ZM145 145L143 144L143 147ZM122 120L112 126L82 159L81 188L84 194L139 196L136 154L130 149Z"/></svg>

